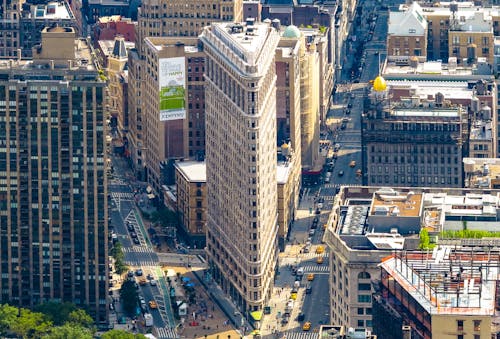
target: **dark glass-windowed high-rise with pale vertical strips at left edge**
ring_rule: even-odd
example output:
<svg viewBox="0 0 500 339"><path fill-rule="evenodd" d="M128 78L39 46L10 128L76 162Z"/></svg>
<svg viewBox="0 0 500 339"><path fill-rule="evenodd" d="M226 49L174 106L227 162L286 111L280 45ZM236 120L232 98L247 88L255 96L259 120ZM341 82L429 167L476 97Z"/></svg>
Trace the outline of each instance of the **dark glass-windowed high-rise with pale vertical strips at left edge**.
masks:
<svg viewBox="0 0 500 339"><path fill-rule="evenodd" d="M105 81L88 40L46 28L0 63L0 299L86 306L106 323Z"/></svg>

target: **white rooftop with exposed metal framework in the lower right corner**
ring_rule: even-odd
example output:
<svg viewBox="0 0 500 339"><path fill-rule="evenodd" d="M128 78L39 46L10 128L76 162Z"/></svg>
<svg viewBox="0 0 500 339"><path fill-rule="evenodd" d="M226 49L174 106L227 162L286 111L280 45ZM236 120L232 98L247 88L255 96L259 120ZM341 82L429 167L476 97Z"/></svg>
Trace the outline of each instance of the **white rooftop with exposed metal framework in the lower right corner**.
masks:
<svg viewBox="0 0 500 339"><path fill-rule="evenodd" d="M477 251L477 252L476 252ZM435 247L407 252L380 266L431 315L484 315L495 312L499 253Z"/></svg>

